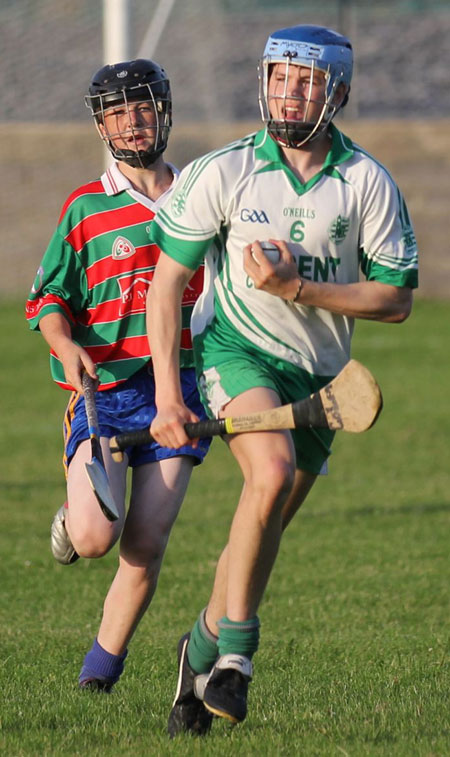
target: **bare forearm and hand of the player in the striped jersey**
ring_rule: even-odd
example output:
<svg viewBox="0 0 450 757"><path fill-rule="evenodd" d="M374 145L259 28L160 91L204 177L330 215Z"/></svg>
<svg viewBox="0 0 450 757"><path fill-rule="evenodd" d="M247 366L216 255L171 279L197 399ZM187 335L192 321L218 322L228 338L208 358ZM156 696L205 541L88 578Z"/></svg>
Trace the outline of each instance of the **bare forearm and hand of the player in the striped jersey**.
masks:
<svg viewBox="0 0 450 757"><path fill-rule="evenodd" d="M64 368L66 380L77 392L83 392L81 376L86 371L97 378L95 365L82 347L72 340L70 324L61 313L49 313L39 323L42 336L56 352Z"/></svg>

